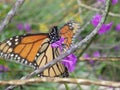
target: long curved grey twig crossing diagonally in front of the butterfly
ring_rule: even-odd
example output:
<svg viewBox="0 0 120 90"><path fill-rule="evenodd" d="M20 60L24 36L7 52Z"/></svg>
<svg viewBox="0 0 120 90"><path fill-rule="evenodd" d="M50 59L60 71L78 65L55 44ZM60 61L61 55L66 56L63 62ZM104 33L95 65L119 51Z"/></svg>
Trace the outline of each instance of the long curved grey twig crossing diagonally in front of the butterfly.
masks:
<svg viewBox="0 0 120 90"><path fill-rule="evenodd" d="M98 32L98 30L102 26L104 20L106 19L106 15L107 15L108 9L109 9L109 2L110 2L110 0L106 0L106 8L105 8L105 11L103 13L102 20L100 21L100 23L98 24L98 26L88 36L85 37L85 39L83 39L81 42L77 43L76 45L72 46L69 50L67 50L65 53L61 54L60 56L58 56L56 59L54 59L51 62L47 63L43 67L41 67L41 68L33 71L32 73L30 73L30 74L22 77L21 79L28 79L28 78L30 78L30 77L32 77L34 75L37 75L38 73L43 72L45 69L47 69L47 68L53 66L55 63L61 61L63 58L65 58L70 53L73 53L78 47L81 47L83 44L85 44L86 42L88 42L94 35L96 35L96 33ZM15 86L10 86L6 90L13 89L14 87Z"/></svg>

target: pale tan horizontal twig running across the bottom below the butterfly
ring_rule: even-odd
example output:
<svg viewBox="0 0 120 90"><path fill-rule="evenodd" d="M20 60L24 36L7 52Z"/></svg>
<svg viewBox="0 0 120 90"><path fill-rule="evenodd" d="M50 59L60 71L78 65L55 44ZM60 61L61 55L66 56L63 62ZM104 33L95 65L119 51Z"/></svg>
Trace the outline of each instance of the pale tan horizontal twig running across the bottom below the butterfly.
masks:
<svg viewBox="0 0 120 90"><path fill-rule="evenodd" d="M104 80L89 80L89 79L79 79L79 78L32 78L26 80L10 80L10 81L0 81L0 85L25 85L40 82L56 82L56 83L72 83L80 85L99 85L106 87L120 87L119 82L104 81Z"/></svg>

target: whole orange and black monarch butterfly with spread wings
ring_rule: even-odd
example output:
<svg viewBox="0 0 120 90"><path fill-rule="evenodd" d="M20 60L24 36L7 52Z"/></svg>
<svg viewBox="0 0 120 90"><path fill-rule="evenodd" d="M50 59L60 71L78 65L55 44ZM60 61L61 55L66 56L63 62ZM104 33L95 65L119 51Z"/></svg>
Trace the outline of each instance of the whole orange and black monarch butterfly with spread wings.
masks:
<svg viewBox="0 0 120 90"><path fill-rule="evenodd" d="M0 57L38 69L60 55L59 48L51 47L52 43L63 37L66 48L69 48L73 33L78 28L76 25L74 22L68 22L59 32L57 26L54 26L50 33L14 36L0 43ZM47 77L68 75L67 68L60 62L40 73L40 76Z"/></svg>

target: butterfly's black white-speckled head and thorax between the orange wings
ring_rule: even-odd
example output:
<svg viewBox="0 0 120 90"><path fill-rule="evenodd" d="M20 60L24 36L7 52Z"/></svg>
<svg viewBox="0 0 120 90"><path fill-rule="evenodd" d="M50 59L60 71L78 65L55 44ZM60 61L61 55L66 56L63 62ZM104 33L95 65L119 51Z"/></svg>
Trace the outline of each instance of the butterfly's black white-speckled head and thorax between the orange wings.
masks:
<svg viewBox="0 0 120 90"><path fill-rule="evenodd" d="M52 30L49 33L49 38L50 38L50 43L54 43L60 39L57 26L52 27Z"/></svg>

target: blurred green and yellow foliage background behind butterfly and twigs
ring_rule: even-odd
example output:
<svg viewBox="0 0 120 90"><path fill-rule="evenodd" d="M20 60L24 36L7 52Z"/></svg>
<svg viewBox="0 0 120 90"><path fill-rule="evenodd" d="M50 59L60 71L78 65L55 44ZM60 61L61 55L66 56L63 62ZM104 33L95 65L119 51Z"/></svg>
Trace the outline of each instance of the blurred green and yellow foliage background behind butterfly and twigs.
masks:
<svg viewBox="0 0 120 90"><path fill-rule="evenodd" d="M1 21L4 19L15 1L16 0L0 0ZM95 2L96 0L83 0L83 3L89 6L93 5ZM119 8L120 3L112 6L111 12L120 13ZM60 28L69 20L78 22L82 27L87 21L91 20L95 13L96 12L92 10L79 7L77 0L26 0L16 13L16 16L11 23L0 33L0 41L25 33L47 33L52 26L57 25ZM114 22L112 29L104 35L97 36L94 42L84 53L93 57L93 53L98 51L101 57L119 57L120 32L115 30L115 26L120 23L119 18L108 16L106 23L111 21ZM20 30L19 26L24 26L26 24L29 25L31 29ZM80 34L78 40L88 35L93 28L94 27L91 24L88 25L88 27ZM78 53L75 52L77 56L79 56L79 51L81 51L81 49L78 50ZM76 66L76 70L70 74L70 77L120 81L119 64L120 62L111 61L96 61L93 63L89 61L79 61ZM19 79L33 71L31 67L3 59L0 59L0 65L0 80ZM3 71L2 68L7 68L7 70ZM74 85L73 87L69 85L69 87L71 90L84 90L80 85ZM0 89L4 88L4 86L0 86ZM38 83L25 85L23 88L24 90L61 90L65 89L65 86L58 83ZM19 90L19 87L16 89ZM99 86L91 85L89 86L89 90L99 90Z"/></svg>

